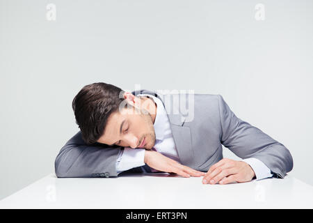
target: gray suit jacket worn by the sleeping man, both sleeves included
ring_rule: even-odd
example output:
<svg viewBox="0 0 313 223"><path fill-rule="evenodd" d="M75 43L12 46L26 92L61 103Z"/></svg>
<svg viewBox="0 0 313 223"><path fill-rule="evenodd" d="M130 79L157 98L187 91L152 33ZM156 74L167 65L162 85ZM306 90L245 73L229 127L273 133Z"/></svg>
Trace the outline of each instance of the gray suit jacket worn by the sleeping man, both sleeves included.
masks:
<svg viewBox="0 0 313 223"><path fill-rule="evenodd" d="M289 150L262 130L236 117L221 95L193 95L193 119L188 121L186 114L173 112L179 109L171 103L174 100L172 95L147 90L133 92L134 95L139 93L148 93L162 100L168 112L179 159L188 167L208 171L211 165L223 158L223 144L243 159L255 157L261 160L271 169L274 177L284 178L293 168ZM191 103L188 96L184 98ZM123 148L97 143L88 146L79 131L56 157L56 176L118 176L115 162L120 149ZM141 171L140 168L134 170Z"/></svg>

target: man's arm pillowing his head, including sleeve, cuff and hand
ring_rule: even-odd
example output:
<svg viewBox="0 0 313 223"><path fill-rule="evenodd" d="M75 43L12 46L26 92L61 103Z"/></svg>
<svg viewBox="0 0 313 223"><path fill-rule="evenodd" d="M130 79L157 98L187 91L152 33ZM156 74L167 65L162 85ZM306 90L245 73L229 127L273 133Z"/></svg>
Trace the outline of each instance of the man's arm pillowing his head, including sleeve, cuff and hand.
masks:
<svg viewBox="0 0 313 223"><path fill-rule="evenodd" d="M55 160L55 172L58 178L111 177L118 176L127 169L145 165L145 162L159 171L169 171L181 176L204 175L155 151L123 149L104 144L87 145L80 131L61 148Z"/></svg>

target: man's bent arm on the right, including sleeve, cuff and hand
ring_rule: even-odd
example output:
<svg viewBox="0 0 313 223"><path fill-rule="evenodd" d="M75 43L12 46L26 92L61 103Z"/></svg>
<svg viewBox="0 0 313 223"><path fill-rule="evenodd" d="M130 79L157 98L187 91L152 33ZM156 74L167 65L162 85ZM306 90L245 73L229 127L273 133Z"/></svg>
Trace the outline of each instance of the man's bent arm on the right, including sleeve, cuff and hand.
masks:
<svg viewBox="0 0 313 223"><path fill-rule="evenodd" d="M218 183L223 178L225 179L220 183L246 182L254 176L257 179L266 176L284 178L287 172L291 171L293 160L284 145L237 118L221 95L218 95L218 107L222 132L220 142L243 158L243 161L220 160L210 167L203 183L209 183L211 180L212 183Z"/></svg>

